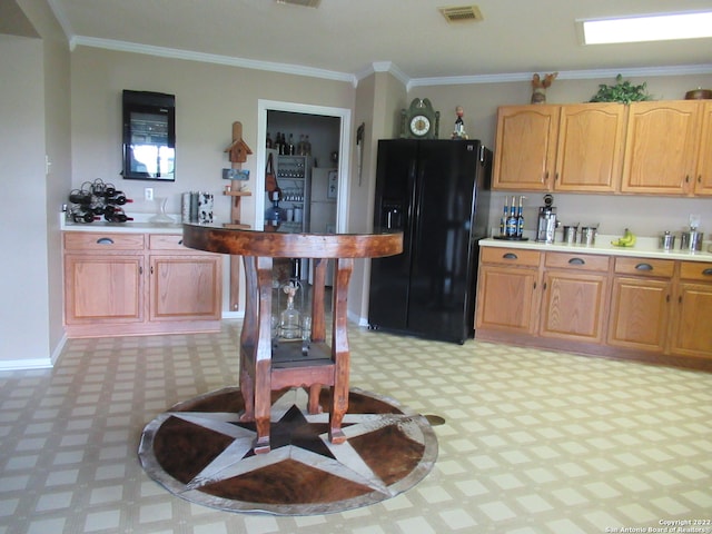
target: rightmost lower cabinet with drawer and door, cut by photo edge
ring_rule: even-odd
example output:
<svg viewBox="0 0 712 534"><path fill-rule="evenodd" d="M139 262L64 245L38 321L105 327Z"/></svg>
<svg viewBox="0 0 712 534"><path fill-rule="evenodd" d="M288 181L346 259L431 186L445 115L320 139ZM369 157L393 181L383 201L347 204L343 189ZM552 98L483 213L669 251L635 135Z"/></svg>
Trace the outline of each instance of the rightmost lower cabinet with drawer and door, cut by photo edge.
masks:
<svg viewBox="0 0 712 534"><path fill-rule="evenodd" d="M712 263L680 261L671 352L712 358Z"/></svg>

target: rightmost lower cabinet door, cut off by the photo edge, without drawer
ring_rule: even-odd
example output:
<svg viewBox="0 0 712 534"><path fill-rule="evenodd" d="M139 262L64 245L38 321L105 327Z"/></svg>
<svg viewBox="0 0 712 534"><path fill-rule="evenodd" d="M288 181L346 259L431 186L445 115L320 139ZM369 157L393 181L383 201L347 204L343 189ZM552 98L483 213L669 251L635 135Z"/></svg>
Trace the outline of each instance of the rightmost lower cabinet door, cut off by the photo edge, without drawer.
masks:
<svg viewBox="0 0 712 534"><path fill-rule="evenodd" d="M712 358L712 284L681 283L672 352Z"/></svg>

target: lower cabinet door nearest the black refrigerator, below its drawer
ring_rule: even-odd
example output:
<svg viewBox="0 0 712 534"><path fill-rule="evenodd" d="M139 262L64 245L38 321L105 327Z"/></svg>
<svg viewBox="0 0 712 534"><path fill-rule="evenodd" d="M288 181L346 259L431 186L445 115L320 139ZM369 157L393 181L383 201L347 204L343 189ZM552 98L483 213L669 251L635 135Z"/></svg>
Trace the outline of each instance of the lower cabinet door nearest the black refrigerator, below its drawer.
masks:
<svg viewBox="0 0 712 534"><path fill-rule="evenodd" d="M537 279L536 269L481 266L475 328L533 333Z"/></svg>

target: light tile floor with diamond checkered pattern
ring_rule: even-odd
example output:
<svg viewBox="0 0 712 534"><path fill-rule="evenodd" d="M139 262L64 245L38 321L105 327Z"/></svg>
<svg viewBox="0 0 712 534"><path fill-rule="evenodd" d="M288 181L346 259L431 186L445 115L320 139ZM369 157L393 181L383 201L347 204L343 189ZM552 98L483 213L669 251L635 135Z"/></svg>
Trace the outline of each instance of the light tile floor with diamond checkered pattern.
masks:
<svg viewBox="0 0 712 534"><path fill-rule="evenodd" d="M352 385L446 419L431 474L332 515L182 501L141 469L141 431L236 383L239 326L72 339L52 370L0 373L0 534L712 532L711 374L356 327Z"/></svg>

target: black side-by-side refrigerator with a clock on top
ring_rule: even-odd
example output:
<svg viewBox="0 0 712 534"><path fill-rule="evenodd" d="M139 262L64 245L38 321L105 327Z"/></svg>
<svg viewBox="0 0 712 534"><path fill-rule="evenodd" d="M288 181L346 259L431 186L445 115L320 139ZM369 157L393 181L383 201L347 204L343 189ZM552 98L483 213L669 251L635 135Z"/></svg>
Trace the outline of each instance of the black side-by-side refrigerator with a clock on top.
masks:
<svg viewBox="0 0 712 534"><path fill-rule="evenodd" d="M374 229L403 253L372 260L368 326L463 344L474 335L477 241L492 151L477 140L378 141Z"/></svg>

